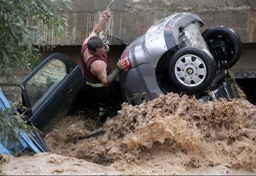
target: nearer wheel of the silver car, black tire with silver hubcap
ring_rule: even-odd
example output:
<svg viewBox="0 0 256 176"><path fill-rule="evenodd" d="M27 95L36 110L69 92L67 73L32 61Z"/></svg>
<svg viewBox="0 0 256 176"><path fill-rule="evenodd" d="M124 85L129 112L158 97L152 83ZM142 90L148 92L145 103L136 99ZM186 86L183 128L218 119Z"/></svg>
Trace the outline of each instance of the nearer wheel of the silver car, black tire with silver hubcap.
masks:
<svg viewBox="0 0 256 176"><path fill-rule="evenodd" d="M205 90L215 75L216 63L205 49L184 47L173 55L169 63L170 79L184 93Z"/></svg>

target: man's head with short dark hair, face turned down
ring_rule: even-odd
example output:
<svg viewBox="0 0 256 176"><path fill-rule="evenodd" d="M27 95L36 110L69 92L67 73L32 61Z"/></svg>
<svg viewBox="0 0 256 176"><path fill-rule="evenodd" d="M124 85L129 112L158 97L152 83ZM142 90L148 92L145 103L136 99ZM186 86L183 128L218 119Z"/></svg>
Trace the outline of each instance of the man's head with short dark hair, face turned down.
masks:
<svg viewBox="0 0 256 176"><path fill-rule="evenodd" d="M98 36L92 36L88 40L88 49L92 52L93 55L99 56L102 55L105 51L104 43Z"/></svg>

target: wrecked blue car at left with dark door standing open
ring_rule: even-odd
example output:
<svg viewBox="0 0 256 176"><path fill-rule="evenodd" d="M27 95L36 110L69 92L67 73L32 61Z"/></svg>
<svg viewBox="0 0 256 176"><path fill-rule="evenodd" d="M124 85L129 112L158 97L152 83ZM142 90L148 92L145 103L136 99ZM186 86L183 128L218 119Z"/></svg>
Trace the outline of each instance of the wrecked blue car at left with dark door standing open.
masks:
<svg viewBox="0 0 256 176"><path fill-rule="evenodd" d="M83 73L68 56L54 53L44 60L20 84L22 105L25 106L28 124L32 131L25 132L13 129L19 139L17 143L1 136L0 153L19 156L22 152L49 152L39 129L46 134L61 117L66 116L68 109L83 88ZM0 111L12 108L0 85ZM6 117L8 118L8 117ZM0 129L0 134L3 129Z"/></svg>

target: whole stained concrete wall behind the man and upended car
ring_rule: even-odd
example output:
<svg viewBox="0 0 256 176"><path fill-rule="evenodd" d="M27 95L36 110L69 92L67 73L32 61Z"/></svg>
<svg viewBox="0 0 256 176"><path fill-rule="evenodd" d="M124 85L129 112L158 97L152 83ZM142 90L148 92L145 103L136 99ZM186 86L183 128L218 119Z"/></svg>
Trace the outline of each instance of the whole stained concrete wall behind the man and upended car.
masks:
<svg viewBox="0 0 256 176"><path fill-rule="evenodd" d="M55 38L51 35L51 29L45 29L42 38L35 43L45 41L49 45L81 45L110 1L74 1L71 12L62 12L67 15L65 36ZM109 8L111 17L104 30L108 26L108 35L128 42L143 35L158 20L175 12L198 14L205 23L203 30L209 26L224 25L237 31L244 43L256 42L255 0L115 0ZM115 40L110 42L119 44Z"/></svg>

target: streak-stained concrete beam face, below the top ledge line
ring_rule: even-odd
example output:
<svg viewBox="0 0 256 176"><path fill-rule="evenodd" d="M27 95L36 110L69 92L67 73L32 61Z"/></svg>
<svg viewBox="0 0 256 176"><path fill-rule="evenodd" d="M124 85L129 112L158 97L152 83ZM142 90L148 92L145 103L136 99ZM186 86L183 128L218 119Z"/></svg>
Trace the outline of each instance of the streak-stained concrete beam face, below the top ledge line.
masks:
<svg viewBox="0 0 256 176"><path fill-rule="evenodd" d="M205 23L203 29L210 26L224 25L237 31L243 43L256 42L256 12L249 11L216 11L196 12ZM68 28L62 38L52 36L51 29L45 29L43 40L49 45L81 45L84 38L90 34L97 24L100 12L67 12ZM132 42L143 35L152 24L172 13L167 12L116 12L111 13L104 31L108 35ZM106 30L108 29L108 30ZM40 44L42 40L35 42ZM110 39L111 45L119 44Z"/></svg>

